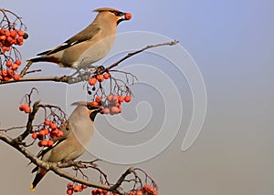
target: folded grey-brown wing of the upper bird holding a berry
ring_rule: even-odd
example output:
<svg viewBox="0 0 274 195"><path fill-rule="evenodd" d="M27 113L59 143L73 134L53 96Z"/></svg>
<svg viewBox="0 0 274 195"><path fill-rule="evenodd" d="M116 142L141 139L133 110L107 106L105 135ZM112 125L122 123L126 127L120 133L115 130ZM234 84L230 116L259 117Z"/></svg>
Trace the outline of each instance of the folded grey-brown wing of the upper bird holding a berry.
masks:
<svg viewBox="0 0 274 195"><path fill-rule="evenodd" d="M67 41L65 41L62 45L57 46L51 50L47 50L37 54L37 56L44 56L44 55L51 55L55 54L58 51L64 50L69 46L77 45L81 42L91 40L93 36L96 36L100 32L100 26L91 24L90 26L86 27L84 30L80 31L75 36L70 37Z"/></svg>

